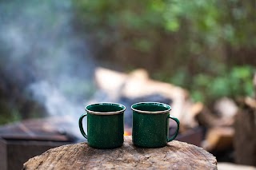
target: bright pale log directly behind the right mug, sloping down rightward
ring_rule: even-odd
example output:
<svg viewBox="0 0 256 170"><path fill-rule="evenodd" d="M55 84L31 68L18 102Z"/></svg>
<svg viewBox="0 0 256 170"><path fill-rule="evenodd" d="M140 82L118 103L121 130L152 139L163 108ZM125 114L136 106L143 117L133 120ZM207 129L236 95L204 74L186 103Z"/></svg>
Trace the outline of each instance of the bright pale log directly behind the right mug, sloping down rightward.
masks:
<svg viewBox="0 0 256 170"><path fill-rule="evenodd" d="M139 69L129 74L121 91L122 96L129 98L142 97L156 93L171 99L171 106L173 108L171 114L183 122L182 117L186 109L184 105L187 105L189 101L189 93L186 89L169 83L154 81L146 77L145 73ZM190 124L191 122L192 121L190 121Z"/></svg>

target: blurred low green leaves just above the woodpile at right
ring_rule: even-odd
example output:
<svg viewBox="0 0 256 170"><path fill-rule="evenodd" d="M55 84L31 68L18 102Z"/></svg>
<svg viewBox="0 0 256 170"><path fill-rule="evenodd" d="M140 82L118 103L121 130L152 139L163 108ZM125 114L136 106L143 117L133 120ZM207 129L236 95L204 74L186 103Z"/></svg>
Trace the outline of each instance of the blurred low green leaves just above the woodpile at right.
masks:
<svg viewBox="0 0 256 170"><path fill-rule="evenodd" d="M186 84L187 74L180 72L170 82L190 89L194 101L210 103L220 97L252 96L253 73L254 69L250 66L237 66L217 77L200 73L191 84Z"/></svg>

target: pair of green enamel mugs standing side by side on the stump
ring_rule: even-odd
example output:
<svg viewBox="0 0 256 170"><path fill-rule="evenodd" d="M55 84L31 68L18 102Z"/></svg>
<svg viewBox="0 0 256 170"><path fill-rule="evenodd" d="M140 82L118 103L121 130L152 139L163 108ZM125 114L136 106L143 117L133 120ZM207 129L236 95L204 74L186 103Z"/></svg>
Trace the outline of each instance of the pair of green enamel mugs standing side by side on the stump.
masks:
<svg viewBox="0 0 256 170"><path fill-rule="evenodd" d="M170 116L170 105L158 102L140 102L133 110L133 144L143 148L159 148L178 135L179 121ZM82 136L93 148L118 148L123 144L124 112L126 107L116 103L97 103L86 106L86 112L78 121ZM87 134L82 119L87 117ZM168 138L169 118L176 121L174 136Z"/></svg>

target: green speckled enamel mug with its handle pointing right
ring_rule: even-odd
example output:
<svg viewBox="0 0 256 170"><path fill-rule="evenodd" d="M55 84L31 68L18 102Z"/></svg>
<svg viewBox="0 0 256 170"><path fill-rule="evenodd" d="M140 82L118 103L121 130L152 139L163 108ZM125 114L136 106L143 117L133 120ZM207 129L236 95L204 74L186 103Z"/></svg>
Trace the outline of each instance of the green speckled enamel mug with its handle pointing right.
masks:
<svg viewBox="0 0 256 170"><path fill-rule="evenodd" d="M133 110L132 140L135 146L160 148L178 135L179 121L170 116L170 105L158 102L141 102L131 106ZM169 119L177 123L174 136L169 138Z"/></svg>

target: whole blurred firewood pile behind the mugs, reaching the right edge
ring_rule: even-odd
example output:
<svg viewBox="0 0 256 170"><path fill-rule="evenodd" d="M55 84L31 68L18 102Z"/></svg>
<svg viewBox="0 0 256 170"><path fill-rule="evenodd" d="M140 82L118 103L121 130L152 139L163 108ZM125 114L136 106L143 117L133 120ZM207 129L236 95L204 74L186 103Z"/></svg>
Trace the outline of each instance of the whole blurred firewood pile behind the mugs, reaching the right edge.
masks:
<svg viewBox="0 0 256 170"><path fill-rule="evenodd" d="M126 129L131 127L130 105L139 101L163 102L171 105L170 114L180 120L180 135L202 127L205 129L201 141L202 148L214 153L231 149L235 158L231 161L256 165L255 99L246 97L233 101L224 97L215 102L214 109L208 109L200 102L193 102L186 89L154 81L144 69L126 74L98 68L95 71L95 81L98 89L105 94L106 101L126 105ZM95 97L94 101L90 102L97 100ZM102 98L100 100L102 101ZM171 121L170 128L174 128Z"/></svg>

